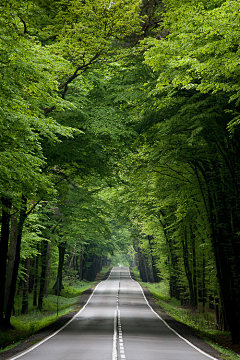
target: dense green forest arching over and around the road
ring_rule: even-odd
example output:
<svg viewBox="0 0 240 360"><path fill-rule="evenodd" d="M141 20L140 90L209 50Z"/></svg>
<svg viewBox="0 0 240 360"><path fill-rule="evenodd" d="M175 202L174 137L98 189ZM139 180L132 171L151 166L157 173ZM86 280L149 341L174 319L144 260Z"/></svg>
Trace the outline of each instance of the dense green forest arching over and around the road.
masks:
<svg viewBox="0 0 240 360"><path fill-rule="evenodd" d="M0 10L0 327L125 254L239 344L239 1Z"/></svg>

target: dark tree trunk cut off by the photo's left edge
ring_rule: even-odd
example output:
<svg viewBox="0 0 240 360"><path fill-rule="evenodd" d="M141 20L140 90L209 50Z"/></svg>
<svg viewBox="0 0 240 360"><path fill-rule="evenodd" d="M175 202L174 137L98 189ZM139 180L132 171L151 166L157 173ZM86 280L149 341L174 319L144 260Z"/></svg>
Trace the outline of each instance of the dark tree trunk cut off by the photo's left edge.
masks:
<svg viewBox="0 0 240 360"><path fill-rule="evenodd" d="M2 226L1 226L1 241L0 241L0 326L3 325L4 317L4 297L5 297L5 282L6 282L6 265L8 253L8 238L9 238L9 223L10 211L12 206L11 199L2 197Z"/></svg>

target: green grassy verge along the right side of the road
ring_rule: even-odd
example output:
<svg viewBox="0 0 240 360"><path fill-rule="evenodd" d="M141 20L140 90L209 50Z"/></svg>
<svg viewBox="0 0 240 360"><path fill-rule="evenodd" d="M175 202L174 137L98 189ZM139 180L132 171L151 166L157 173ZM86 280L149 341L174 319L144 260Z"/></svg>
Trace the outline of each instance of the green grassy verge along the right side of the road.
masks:
<svg viewBox="0 0 240 360"><path fill-rule="evenodd" d="M192 310L181 306L179 300L169 296L169 288L163 281L160 283L143 283L152 293L156 303L174 319L188 325L196 335L218 350L226 360L239 360L240 356L231 349L230 333L215 329L215 318L212 311Z"/></svg>

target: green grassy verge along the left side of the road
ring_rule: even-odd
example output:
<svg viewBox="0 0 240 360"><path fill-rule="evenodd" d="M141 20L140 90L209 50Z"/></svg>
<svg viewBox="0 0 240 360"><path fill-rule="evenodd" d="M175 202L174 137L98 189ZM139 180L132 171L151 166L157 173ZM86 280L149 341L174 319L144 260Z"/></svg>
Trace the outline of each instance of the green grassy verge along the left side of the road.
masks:
<svg viewBox="0 0 240 360"><path fill-rule="evenodd" d="M97 275L97 281L101 281L109 270L104 267ZM29 313L21 314L22 295L15 297L15 315L11 317L11 324L14 329L0 330L0 353L23 342L31 335L39 332L41 329L52 324L59 317L74 311L81 294L93 287L96 282L79 281L73 279L64 279L64 289L58 298L58 316L57 316L57 296L52 287L54 281L49 284L49 295L43 300L43 309L40 311L33 306L33 295L29 294ZM79 307L80 309L80 307Z"/></svg>

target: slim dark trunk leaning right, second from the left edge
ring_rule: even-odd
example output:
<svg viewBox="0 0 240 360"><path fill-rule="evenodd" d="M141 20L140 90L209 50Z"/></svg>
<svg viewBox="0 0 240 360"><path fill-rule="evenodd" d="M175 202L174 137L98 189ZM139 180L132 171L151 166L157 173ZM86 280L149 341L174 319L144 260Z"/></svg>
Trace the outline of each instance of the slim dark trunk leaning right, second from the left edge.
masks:
<svg viewBox="0 0 240 360"><path fill-rule="evenodd" d="M11 313L14 305L14 296L16 291L16 283L17 283L17 276L18 276L18 268L20 263L20 251L21 251L21 241L22 241L22 231L23 231L23 225L24 221L27 217L27 198L22 195L22 204L21 204L21 210L20 210L20 218L18 223L18 234L17 234L17 246L16 246L16 256L15 256L15 262L13 267L13 276L12 276L12 282L9 292L9 299L7 303L6 308L6 314L5 314L5 325L6 327L11 327L10 318Z"/></svg>

